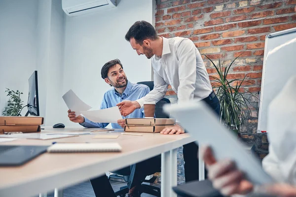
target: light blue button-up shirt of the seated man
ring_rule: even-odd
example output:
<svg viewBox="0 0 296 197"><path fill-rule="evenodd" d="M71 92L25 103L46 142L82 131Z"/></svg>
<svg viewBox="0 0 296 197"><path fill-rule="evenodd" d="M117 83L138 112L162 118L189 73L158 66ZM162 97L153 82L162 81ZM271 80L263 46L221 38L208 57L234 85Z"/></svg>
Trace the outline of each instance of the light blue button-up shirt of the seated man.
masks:
<svg viewBox="0 0 296 197"><path fill-rule="evenodd" d="M149 92L150 89L148 86L143 84L131 83L130 81L128 81L126 89L124 90L122 95L120 95L114 88L104 94L104 99L101 103L101 109L114 107L122 100L134 101L137 99L141 99ZM144 118L144 108L142 107L141 109L136 109L133 113L129 114L125 118ZM105 128L107 127L107 125L109 125L109 123L94 123L85 117L84 119L85 122L81 123L80 125L86 128ZM122 117L122 119L124 119L124 117ZM118 125L117 123L111 123L111 126L114 129L122 129L122 127L120 127L120 125Z"/></svg>

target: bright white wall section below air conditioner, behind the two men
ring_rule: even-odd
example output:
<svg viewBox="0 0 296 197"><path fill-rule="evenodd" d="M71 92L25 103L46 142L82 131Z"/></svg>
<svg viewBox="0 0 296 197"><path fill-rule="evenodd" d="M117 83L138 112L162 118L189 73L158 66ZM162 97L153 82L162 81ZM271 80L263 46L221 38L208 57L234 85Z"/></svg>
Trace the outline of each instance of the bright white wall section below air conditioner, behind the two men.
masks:
<svg viewBox="0 0 296 197"><path fill-rule="evenodd" d="M153 23L154 4L153 0L121 0L109 10L66 16L63 92L73 89L80 99L99 108L110 89L101 78L101 68L115 58L122 62L130 81L151 80L150 60L138 56L124 36L138 20ZM62 108L67 111L66 105ZM69 120L64 123L73 125Z"/></svg>

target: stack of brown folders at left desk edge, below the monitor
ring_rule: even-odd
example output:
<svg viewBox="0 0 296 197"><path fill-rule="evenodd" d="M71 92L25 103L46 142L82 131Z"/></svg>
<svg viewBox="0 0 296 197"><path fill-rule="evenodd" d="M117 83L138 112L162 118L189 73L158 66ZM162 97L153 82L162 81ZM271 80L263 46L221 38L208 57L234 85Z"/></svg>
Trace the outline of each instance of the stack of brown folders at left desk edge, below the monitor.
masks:
<svg viewBox="0 0 296 197"><path fill-rule="evenodd" d="M40 132L42 117L0 116L0 134L9 132Z"/></svg>

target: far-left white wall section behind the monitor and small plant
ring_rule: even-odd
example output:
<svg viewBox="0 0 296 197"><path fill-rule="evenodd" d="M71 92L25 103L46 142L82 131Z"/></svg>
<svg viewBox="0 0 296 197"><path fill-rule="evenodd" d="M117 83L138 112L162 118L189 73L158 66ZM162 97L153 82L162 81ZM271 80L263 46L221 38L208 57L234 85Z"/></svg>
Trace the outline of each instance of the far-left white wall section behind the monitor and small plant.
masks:
<svg viewBox="0 0 296 197"><path fill-rule="evenodd" d="M0 114L8 100L5 88L23 92L27 103L28 79L37 68L37 4L37 0L0 0Z"/></svg>

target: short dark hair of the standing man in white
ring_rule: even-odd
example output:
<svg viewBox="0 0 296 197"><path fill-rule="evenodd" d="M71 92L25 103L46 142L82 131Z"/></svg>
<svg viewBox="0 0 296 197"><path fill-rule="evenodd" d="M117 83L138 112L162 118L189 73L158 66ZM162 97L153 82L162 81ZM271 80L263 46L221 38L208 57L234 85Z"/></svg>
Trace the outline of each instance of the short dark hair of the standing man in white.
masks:
<svg viewBox="0 0 296 197"><path fill-rule="evenodd" d="M125 35L127 41L130 41L131 38L135 38L136 42L140 45L142 45L143 40L147 38L156 40L157 37L154 27L146 21L137 21L132 27L130 27Z"/></svg>

